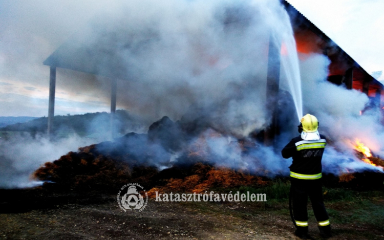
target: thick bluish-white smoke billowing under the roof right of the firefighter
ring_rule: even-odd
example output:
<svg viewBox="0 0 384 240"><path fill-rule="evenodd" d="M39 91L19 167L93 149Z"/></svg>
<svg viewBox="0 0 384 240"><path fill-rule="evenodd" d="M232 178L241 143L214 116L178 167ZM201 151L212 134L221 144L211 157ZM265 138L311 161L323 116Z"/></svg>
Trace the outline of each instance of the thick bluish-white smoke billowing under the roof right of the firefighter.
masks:
<svg viewBox="0 0 384 240"><path fill-rule="evenodd" d="M383 153L384 127L378 110L360 115L369 103L366 94L347 90L327 81L329 59L308 55L301 61L304 109L319 119L319 132L330 140L324 155L325 170L333 173L381 170L355 156L355 140L369 146L377 155ZM336 150L337 149L337 150Z"/></svg>

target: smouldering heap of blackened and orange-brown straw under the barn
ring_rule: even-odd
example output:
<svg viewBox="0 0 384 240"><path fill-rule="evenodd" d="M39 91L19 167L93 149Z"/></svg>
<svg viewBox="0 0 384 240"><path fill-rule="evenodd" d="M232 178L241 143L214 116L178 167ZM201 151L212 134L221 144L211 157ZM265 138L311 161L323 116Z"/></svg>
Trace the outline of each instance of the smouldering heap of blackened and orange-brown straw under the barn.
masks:
<svg viewBox="0 0 384 240"><path fill-rule="evenodd" d="M149 194L159 192L203 192L210 188L252 186L269 184L268 170L250 172L246 168L225 167L212 159L220 158L209 149L209 138L223 138L223 134L204 124L183 121L173 122L167 117L153 123L148 134L129 133L114 141L81 147L60 159L47 162L34 172L34 177L46 181L42 188L55 188L116 192L126 183L136 182ZM230 148L234 143L228 142ZM258 145L237 139L241 155L247 158ZM383 160L372 158L377 165ZM239 163L240 164L240 163ZM286 175L285 175L286 176ZM274 174L273 178L287 178ZM345 173L341 176L325 174L324 183L329 187L354 189L381 189L384 174L381 172Z"/></svg>

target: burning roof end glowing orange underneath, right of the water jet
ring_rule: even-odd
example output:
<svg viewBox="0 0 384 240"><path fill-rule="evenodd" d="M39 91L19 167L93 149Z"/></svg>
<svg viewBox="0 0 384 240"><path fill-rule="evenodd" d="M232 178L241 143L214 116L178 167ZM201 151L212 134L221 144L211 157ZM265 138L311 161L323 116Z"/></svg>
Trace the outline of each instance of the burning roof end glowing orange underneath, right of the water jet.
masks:
<svg viewBox="0 0 384 240"><path fill-rule="evenodd" d="M337 85L345 84L347 89L365 93L372 106L382 107L384 105L383 85L292 5L286 1L283 1L283 4L292 22L297 53L326 55L331 61L328 81Z"/></svg>

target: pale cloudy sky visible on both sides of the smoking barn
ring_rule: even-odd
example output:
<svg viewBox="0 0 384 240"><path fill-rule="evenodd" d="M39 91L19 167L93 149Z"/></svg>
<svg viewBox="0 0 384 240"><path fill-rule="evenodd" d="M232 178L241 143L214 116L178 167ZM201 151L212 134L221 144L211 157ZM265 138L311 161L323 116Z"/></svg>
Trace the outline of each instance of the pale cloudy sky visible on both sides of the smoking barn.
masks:
<svg viewBox="0 0 384 240"><path fill-rule="evenodd" d="M368 73L384 76L384 1L289 0ZM42 62L110 1L0 0L0 116L47 116L49 67ZM66 79L78 78L78 85ZM79 91L92 76L58 70L55 115L109 111L100 93Z"/></svg>

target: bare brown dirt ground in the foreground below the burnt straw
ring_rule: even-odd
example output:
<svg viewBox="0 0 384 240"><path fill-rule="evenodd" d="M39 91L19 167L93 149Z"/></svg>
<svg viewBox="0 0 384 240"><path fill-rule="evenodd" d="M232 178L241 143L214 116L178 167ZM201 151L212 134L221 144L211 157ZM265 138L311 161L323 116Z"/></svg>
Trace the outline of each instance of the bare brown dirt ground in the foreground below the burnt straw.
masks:
<svg viewBox="0 0 384 240"><path fill-rule="evenodd" d="M143 211L124 212L112 194L98 195L95 201L55 199L65 200L33 202L30 208L22 208L29 204L28 197L14 203L3 200L0 239L298 239L293 235L288 203L150 199ZM321 239L313 214L309 224L312 239ZM331 239L384 239L384 229L369 225L342 223L332 228Z"/></svg>

